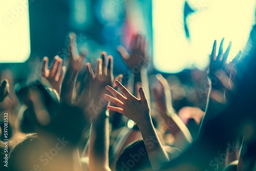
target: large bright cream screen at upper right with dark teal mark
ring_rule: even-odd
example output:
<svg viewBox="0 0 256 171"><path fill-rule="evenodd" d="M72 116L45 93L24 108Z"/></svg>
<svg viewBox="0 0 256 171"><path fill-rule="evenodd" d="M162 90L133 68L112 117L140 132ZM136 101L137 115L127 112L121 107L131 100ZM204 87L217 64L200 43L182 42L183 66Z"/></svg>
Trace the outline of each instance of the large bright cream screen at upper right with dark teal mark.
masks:
<svg viewBox="0 0 256 171"><path fill-rule="evenodd" d="M166 73L193 66L204 69L214 40L219 46L223 37L224 48L232 41L228 60L232 59L243 50L255 23L254 0L195 0L187 4L182 0L153 0L152 3L154 66Z"/></svg>

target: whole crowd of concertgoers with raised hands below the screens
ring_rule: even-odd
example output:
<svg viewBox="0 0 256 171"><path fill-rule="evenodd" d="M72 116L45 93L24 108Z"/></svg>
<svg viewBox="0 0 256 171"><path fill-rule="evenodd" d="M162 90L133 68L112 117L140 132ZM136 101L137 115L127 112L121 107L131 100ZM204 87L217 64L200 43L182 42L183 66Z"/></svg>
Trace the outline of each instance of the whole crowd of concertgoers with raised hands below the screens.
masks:
<svg viewBox="0 0 256 171"><path fill-rule="evenodd" d="M182 115L163 75L150 89L144 36L118 47L131 72L122 82L111 55L91 65L69 33L65 65L44 57L41 78L24 85L1 73L1 170L256 170L255 28L231 62L232 42L214 41L205 111Z"/></svg>

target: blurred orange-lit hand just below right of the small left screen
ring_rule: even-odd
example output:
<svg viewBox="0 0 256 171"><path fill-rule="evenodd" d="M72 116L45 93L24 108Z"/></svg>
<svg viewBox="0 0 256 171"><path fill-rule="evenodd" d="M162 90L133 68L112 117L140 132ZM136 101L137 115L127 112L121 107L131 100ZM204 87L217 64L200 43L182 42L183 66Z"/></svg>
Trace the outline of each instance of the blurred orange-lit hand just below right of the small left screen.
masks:
<svg viewBox="0 0 256 171"><path fill-rule="evenodd" d="M46 78L51 84L52 88L60 94L63 77L66 71L66 67L62 66L62 59L58 56L54 57L50 69L48 69L48 57L42 59L41 64L41 76Z"/></svg>

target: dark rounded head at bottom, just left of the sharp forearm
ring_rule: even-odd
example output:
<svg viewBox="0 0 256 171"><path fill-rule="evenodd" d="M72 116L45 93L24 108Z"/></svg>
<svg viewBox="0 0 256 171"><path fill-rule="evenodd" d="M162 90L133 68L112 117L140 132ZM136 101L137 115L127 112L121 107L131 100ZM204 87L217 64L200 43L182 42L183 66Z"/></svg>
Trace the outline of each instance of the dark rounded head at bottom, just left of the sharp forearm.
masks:
<svg viewBox="0 0 256 171"><path fill-rule="evenodd" d="M153 170L143 140L128 145L116 163L117 171Z"/></svg>

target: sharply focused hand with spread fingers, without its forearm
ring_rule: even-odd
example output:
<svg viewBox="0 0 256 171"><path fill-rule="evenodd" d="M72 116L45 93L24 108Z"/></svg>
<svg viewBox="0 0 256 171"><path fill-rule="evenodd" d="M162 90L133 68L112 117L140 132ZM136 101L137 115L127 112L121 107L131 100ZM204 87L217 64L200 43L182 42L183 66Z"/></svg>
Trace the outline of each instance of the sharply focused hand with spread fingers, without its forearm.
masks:
<svg viewBox="0 0 256 171"><path fill-rule="evenodd" d="M124 116L132 119L138 125L148 123L151 119L150 108L148 106L143 88L139 89L140 99L138 99L134 97L120 82L115 81L115 83L124 96L118 93L112 87L107 86L106 90L108 90L116 98L107 94L104 95L104 98L110 100L118 106L108 106L107 108L123 114Z"/></svg>

